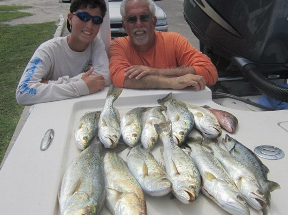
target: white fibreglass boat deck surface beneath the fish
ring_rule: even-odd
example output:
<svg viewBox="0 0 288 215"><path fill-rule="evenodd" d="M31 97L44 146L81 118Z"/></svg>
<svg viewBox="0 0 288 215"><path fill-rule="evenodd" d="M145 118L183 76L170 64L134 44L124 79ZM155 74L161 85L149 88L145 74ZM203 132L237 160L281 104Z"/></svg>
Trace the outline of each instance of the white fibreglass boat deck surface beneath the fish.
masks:
<svg viewBox="0 0 288 215"><path fill-rule="evenodd" d="M0 170L1 214L41 214L59 215L58 191L62 176L80 150L74 142L74 127L87 111L101 111L108 88L99 93L75 99L37 104L28 116L14 146ZM282 149L286 156L280 160L260 158L270 169L268 179L281 185L281 189L271 193L270 215L286 215L288 204L288 110L254 112L237 110L218 105L211 99L207 88L195 92L192 89L173 90L129 90L123 89L114 106L121 116L131 108L156 106L161 99L173 92L173 98L196 105L209 105L226 110L238 118L236 133L229 134L251 150L259 145L272 145ZM41 140L48 129L55 132L54 140L46 151L40 150ZM218 138L221 143L226 131ZM223 145L221 143L221 145ZM153 151L155 156L160 152ZM121 153L125 160L125 152ZM202 193L195 203L185 205L177 199L150 197L146 195L147 214L228 214ZM251 215L262 214L252 208ZM101 214L110 214L104 209Z"/></svg>

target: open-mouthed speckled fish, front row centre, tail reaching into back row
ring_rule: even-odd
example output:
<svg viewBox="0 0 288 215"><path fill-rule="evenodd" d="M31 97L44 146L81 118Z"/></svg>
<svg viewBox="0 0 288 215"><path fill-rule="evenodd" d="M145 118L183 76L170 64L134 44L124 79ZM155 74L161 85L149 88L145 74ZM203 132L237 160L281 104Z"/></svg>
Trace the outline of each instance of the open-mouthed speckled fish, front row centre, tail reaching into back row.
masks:
<svg viewBox="0 0 288 215"><path fill-rule="evenodd" d="M168 179L173 184L172 192L184 204L193 203L198 198L201 179L192 158L187 155L171 137L171 121L154 125L163 142L163 158Z"/></svg>

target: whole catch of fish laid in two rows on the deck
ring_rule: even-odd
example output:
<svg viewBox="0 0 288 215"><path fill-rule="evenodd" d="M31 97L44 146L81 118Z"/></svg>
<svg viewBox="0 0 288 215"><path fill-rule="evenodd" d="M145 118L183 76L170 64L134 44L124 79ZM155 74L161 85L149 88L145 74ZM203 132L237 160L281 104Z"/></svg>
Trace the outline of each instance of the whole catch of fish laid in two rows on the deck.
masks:
<svg viewBox="0 0 288 215"><path fill-rule="evenodd" d="M229 135L223 138L227 150L217 141L222 128L236 131L235 116L175 101L169 93L158 106L137 107L121 118L113 106L121 92L111 85L103 110L84 114L75 128L81 152L62 179L62 215L100 214L105 205L112 214L147 214L145 194L170 192L184 204L202 192L235 215L250 214L248 205L256 210L270 205L270 192L280 185L268 180L268 168ZM191 136L192 130L202 136ZM92 141L96 136L100 142ZM164 165L153 156L156 144ZM127 162L118 156L126 148Z"/></svg>

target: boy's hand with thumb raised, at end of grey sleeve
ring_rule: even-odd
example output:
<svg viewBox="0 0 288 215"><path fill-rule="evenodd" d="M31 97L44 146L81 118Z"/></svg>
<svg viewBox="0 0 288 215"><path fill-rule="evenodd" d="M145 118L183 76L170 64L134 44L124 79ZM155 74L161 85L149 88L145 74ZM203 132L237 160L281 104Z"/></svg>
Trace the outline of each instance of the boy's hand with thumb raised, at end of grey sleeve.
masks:
<svg viewBox="0 0 288 215"><path fill-rule="evenodd" d="M90 70L85 72L81 77L81 79L84 80L84 82L86 83L89 89L89 94L96 93L100 90L103 90L105 87L105 81L102 75L90 76L93 70L94 70L94 67L92 66Z"/></svg>

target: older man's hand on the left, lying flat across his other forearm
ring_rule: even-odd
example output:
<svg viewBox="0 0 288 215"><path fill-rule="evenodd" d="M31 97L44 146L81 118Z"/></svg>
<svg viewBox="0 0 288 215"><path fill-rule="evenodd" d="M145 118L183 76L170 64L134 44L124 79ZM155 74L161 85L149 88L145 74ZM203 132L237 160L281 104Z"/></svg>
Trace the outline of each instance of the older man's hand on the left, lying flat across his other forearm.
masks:
<svg viewBox="0 0 288 215"><path fill-rule="evenodd" d="M146 75L156 74L157 69L149 66L129 66L125 70L125 77L139 80Z"/></svg>

